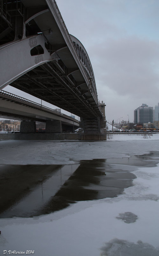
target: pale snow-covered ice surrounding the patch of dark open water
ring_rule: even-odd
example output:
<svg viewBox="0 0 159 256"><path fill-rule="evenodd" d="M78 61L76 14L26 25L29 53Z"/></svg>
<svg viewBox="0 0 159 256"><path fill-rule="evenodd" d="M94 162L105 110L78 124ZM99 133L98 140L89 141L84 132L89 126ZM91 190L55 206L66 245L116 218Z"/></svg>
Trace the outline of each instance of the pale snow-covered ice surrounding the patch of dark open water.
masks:
<svg viewBox="0 0 159 256"><path fill-rule="evenodd" d="M112 169L122 166L137 178L114 198L78 201L32 218L1 218L0 255L14 250L36 256L159 255L159 157L152 154L159 152L159 135L123 136L94 142L1 140L1 165L107 159ZM144 154L143 165L138 157L133 162L134 155Z"/></svg>

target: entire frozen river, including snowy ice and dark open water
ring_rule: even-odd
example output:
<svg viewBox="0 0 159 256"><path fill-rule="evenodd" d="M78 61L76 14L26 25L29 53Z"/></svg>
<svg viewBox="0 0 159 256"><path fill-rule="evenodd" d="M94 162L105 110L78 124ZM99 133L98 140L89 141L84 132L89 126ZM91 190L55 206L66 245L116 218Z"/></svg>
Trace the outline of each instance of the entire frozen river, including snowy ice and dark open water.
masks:
<svg viewBox="0 0 159 256"><path fill-rule="evenodd" d="M159 255L158 166L159 134L1 140L0 255Z"/></svg>

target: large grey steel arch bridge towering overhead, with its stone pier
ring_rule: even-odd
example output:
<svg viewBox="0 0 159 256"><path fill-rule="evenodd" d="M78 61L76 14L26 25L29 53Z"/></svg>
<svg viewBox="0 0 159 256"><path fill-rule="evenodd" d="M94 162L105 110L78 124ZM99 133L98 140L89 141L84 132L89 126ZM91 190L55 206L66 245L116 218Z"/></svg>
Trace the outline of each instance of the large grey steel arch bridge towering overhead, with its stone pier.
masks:
<svg viewBox="0 0 159 256"><path fill-rule="evenodd" d="M0 89L20 89L81 119L84 139L103 135L105 104L98 101L86 49L70 35L54 0L1 0Z"/></svg>

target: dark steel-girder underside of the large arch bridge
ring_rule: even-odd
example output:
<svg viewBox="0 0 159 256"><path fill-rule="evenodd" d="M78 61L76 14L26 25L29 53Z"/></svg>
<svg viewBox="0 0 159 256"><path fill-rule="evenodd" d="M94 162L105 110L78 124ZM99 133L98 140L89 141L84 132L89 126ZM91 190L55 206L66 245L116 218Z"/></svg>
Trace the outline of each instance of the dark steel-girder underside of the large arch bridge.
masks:
<svg viewBox="0 0 159 256"><path fill-rule="evenodd" d="M94 102L91 106L93 98L91 93L88 89L81 89L80 86L77 86L73 77L73 81L71 81L70 77L63 74L64 72L61 71L63 69L56 67L56 64L60 62L59 60L57 63L52 61L42 64L19 77L10 85L70 113L73 112L79 117L93 118L96 116L96 111L93 108Z"/></svg>

